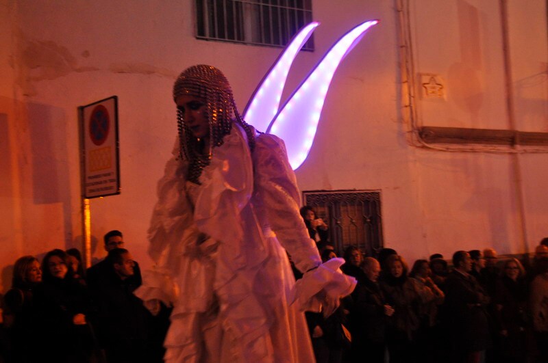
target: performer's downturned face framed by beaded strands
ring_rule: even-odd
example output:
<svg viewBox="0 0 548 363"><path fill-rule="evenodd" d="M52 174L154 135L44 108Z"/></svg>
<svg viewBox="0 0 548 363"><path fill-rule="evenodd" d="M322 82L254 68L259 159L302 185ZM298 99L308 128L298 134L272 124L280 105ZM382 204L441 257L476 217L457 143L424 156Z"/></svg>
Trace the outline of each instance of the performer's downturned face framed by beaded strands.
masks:
<svg viewBox="0 0 548 363"><path fill-rule="evenodd" d="M203 98L183 95L175 100L177 109L183 113L184 123L194 137L202 138L210 135L208 107Z"/></svg>

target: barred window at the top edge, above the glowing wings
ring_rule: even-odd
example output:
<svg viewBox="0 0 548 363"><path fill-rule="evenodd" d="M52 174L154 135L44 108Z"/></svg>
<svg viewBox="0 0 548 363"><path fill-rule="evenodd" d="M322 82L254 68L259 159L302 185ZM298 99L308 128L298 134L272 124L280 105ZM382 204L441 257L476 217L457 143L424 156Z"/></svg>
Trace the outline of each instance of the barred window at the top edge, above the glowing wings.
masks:
<svg viewBox="0 0 548 363"><path fill-rule="evenodd" d="M196 38L285 46L312 22L312 0L196 0ZM314 50L312 37L303 46Z"/></svg>

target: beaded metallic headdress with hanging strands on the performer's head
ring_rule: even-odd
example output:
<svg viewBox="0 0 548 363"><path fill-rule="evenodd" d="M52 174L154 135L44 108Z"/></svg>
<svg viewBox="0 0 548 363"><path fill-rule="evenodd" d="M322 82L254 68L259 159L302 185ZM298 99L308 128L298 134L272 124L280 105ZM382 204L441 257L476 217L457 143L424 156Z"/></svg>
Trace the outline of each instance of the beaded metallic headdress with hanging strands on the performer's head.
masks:
<svg viewBox="0 0 548 363"><path fill-rule="evenodd" d="M203 98L208 107L210 124L210 150L208 154L203 153L203 150L201 150L203 144L192 135L184 122L184 114L177 109L179 154L189 161L188 179L194 183L199 183L198 179L201 171L210 163L213 148L223 144L223 137L230 133L232 122L236 121L243 127L251 150L255 146L255 135L238 113L230 84L219 69L204 64L186 68L177 77L175 85L173 85L173 100L177 101L177 97L184 95Z"/></svg>

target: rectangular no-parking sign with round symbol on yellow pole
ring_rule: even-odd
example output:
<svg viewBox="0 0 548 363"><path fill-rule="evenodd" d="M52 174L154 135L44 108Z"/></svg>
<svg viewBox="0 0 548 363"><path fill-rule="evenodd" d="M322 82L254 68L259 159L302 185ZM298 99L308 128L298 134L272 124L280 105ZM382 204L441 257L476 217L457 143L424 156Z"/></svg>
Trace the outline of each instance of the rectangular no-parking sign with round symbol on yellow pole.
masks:
<svg viewBox="0 0 548 363"><path fill-rule="evenodd" d="M120 193L118 97L78 107L84 198Z"/></svg>

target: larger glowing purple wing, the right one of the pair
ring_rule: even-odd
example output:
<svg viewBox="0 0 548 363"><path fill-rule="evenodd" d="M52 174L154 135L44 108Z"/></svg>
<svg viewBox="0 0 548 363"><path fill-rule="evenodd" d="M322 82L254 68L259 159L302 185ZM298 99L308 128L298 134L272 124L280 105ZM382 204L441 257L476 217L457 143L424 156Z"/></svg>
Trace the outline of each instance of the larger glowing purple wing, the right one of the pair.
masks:
<svg viewBox="0 0 548 363"><path fill-rule="evenodd" d="M365 31L378 22L366 21L340 38L293 92L266 129L266 133L284 139L293 170L301 166L312 148L323 101L338 64L360 41Z"/></svg>

